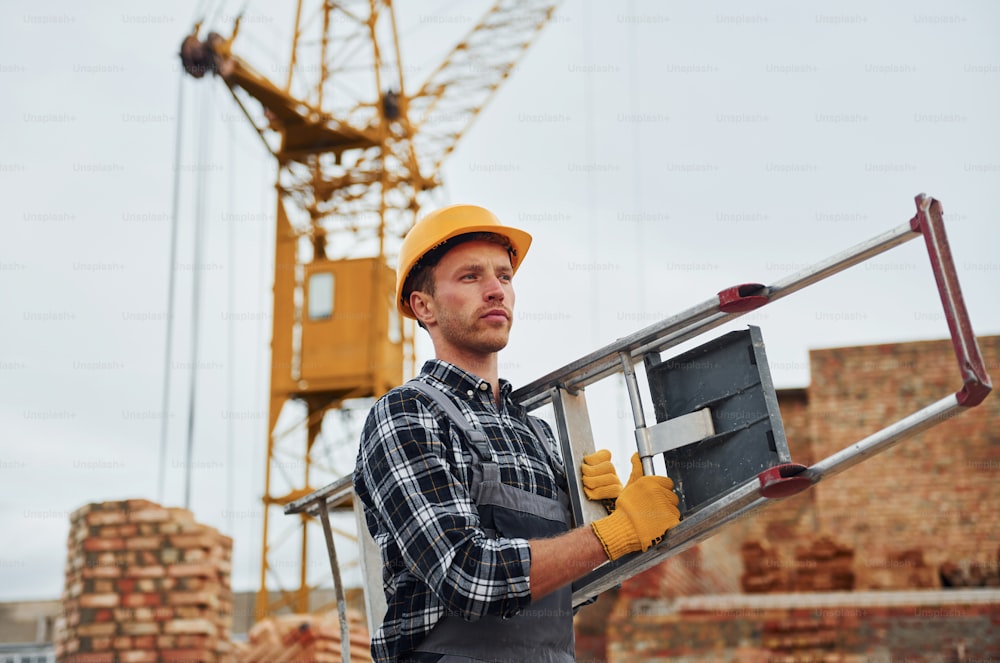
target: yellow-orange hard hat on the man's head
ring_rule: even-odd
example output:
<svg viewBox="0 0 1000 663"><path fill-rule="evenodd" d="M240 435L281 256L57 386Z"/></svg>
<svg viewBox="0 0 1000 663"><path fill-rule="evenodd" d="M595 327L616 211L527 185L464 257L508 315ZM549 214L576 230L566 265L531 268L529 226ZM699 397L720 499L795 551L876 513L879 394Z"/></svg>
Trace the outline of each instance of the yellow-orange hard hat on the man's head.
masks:
<svg viewBox="0 0 1000 663"><path fill-rule="evenodd" d="M403 239L396 268L396 307L407 318L414 318L410 302L403 300L403 286L410 271L431 249L437 248L453 237L466 233L489 232L503 235L510 240L510 265L517 268L531 246L531 235L500 223L493 212L476 205L449 205L434 210L417 221Z"/></svg>

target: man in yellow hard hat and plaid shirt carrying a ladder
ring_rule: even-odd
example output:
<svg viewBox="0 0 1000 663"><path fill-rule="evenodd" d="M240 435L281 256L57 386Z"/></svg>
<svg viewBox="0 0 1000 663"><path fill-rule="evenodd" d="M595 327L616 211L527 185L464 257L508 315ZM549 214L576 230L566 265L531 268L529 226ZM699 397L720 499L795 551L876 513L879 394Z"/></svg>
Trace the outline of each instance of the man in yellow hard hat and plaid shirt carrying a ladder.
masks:
<svg viewBox="0 0 1000 663"><path fill-rule="evenodd" d="M570 529L551 430L498 376L530 243L473 205L432 212L403 241L396 304L435 359L374 405L354 472L388 603L376 661L573 661L571 583L679 521L670 479L641 476L634 457L623 489L602 452L586 492L616 508Z"/></svg>

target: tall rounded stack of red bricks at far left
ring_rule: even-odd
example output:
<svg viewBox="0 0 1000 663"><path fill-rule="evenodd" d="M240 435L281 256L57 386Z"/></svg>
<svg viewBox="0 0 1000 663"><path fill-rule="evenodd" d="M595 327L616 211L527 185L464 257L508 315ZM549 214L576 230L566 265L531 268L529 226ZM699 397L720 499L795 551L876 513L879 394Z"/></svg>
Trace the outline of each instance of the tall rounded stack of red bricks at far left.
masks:
<svg viewBox="0 0 1000 663"><path fill-rule="evenodd" d="M70 517L61 663L231 662L232 539L146 500Z"/></svg>

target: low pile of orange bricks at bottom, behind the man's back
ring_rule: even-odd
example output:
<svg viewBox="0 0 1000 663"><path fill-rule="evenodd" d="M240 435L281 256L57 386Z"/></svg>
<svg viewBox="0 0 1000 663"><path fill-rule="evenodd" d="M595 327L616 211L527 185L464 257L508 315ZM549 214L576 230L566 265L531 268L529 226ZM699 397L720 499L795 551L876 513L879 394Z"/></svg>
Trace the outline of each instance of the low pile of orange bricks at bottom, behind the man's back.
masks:
<svg viewBox="0 0 1000 663"><path fill-rule="evenodd" d="M349 619L351 660L371 662L368 630L361 619ZM237 645L239 663L338 663L341 660L340 619L334 614L281 615L263 619Z"/></svg>

